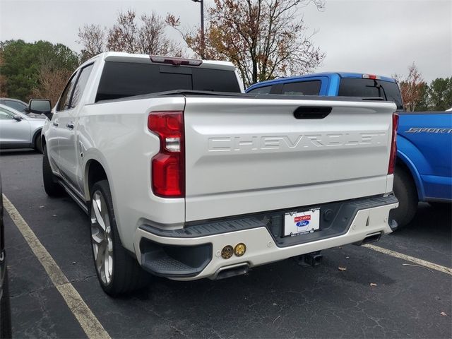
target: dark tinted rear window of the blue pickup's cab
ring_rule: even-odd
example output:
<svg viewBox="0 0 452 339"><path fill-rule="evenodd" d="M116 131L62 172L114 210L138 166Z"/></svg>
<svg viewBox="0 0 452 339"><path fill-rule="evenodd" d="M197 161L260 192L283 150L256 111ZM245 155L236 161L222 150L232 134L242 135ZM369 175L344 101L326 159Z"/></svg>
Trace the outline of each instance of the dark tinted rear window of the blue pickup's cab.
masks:
<svg viewBox="0 0 452 339"><path fill-rule="evenodd" d="M340 80L339 97L382 97L393 101L397 109L403 109L397 83L377 79L343 78Z"/></svg>

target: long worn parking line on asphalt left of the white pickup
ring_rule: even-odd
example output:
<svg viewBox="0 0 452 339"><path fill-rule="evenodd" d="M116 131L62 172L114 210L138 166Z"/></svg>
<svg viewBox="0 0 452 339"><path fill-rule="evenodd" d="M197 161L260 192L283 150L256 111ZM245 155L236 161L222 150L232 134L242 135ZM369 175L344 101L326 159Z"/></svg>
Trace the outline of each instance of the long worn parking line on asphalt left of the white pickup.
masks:
<svg viewBox="0 0 452 339"><path fill-rule="evenodd" d="M83 331L85 331L88 338L110 338L107 331L105 331L105 328L97 320L88 305L85 304L77 290L71 283L69 283L68 278L66 278L66 275L64 275L61 271L47 249L42 246L35 233L30 229L30 226L28 226L27 222L23 220L20 213L18 213L18 210L16 210L11 201L9 201L5 195L3 195L3 199L5 210L11 216L11 219L14 224L16 224L20 233L22 233L26 242L28 242L30 249L32 249L33 253L46 270L50 280L52 280L52 283L55 287L57 287L61 297L63 297L64 301L78 320L78 323L80 323L81 328L83 328Z"/></svg>

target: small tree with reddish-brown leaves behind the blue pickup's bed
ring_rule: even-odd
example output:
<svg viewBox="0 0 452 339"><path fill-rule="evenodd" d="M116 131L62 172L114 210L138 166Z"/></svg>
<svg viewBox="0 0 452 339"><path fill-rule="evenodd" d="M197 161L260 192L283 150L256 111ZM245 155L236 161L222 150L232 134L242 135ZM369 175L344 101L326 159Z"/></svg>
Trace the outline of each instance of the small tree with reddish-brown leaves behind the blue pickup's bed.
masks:
<svg viewBox="0 0 452 339"><path fill-rule="evenodd" d="M402 95L403 105L408 112L413 112L424 97L424 86L426 83L422 74L417 69L415 62L408 66L408 76L403 78L394 74Z"/></svg>

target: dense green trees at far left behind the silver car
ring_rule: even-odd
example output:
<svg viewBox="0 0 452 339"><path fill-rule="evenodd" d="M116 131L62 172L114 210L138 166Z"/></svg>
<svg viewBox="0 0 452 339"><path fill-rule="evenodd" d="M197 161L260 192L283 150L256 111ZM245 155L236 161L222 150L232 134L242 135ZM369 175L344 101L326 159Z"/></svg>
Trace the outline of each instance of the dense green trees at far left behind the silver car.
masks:
<svg viewBox="0 0 452 339"><path fill-rule="evenodd" d="M40 87L40 72L46 68L54 70L76 69L78 56L64 44L47 41L33 43L23 40L0 42L3 64L0 73L5 78L5 92L8 97L28 100L32 91Z"/></svg>

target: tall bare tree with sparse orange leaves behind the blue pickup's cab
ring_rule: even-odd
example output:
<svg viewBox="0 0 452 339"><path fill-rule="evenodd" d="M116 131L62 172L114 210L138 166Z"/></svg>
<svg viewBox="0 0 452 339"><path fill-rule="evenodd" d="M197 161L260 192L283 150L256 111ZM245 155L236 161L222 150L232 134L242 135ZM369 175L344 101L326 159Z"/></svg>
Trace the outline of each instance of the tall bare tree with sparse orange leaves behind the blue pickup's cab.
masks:
<svg viewBox="0 0 452 339"><path fill-rule="evenodd" d="M180 28L180 20L167 23L181 32L186 44L206 59L227 59L239 69L245 85L276 76L312 71L325 57L312 42L300 18L308 4L323 8L323 0L215 0L208 10L206 43L201 32ZM202 53L203 52L203 53Z"/></svg>

